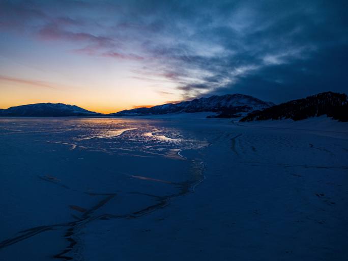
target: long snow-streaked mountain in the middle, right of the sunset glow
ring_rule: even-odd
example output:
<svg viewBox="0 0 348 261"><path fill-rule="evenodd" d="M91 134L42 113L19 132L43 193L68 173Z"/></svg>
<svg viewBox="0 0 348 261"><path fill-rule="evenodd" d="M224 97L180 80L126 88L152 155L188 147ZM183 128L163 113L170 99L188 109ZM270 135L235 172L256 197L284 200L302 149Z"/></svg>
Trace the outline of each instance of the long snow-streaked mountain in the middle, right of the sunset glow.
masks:
<svg viewBox="0 0 348 261"><path fill-rule="evenodd" d="M249 95L226 94L222 96L211 96L179 103L166 103L151 108L137 108L111 113L113 116L141 116L157 115L181 112L220 112L224 114L235 114L239 112L251 112L263 110L274 106L272 102L262 101Z"/></svg>

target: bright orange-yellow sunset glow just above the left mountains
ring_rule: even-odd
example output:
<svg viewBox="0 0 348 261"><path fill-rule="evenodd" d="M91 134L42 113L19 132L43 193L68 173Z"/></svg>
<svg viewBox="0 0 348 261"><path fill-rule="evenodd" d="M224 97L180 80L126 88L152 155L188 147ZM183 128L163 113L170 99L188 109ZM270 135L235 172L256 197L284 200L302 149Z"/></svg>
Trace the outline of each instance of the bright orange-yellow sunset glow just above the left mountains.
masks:
<svg viewBox="0 0 348 261"><path fill-rule="evenodd" d="M108 114L166 103L167 97L161 96L151 88L142 88L140 85L134 85L133 82L125 84L132 84L132 90L135 91L127 91L130 88L121 87L68 88L62 84L0 75L0 109L33 103L60 102Z"/></svg>

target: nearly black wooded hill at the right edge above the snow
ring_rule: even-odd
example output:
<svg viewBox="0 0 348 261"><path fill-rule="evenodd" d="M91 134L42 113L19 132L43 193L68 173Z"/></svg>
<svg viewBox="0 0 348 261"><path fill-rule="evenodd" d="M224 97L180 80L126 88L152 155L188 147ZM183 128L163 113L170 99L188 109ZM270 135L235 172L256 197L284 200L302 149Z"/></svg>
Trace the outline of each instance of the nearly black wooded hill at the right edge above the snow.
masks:
<svg viewBox="0 0 348 261"><path fill-rule="evenodd" d="M280 105L255 111L240 121L254 120L303 120L327 115L339 121L348 121L348 97L344 93L323 92L304 99L291 100Z"/></svg>

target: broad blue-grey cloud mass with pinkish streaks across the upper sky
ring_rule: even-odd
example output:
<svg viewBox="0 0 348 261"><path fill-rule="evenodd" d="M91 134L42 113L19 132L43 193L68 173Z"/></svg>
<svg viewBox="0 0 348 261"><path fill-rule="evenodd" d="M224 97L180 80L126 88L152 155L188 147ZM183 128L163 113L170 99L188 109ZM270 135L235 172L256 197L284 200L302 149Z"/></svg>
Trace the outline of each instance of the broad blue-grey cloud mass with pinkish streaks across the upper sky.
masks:
<svg viewBox="0 0 348 261"><path fill-rule="evenodd" d="M40 40L72 42L80 55L128 61L134 79L168 84L183 99L239 92L279 102L348 88L346 1L32 0L0 7L0 30L20 28Z"/></svg>

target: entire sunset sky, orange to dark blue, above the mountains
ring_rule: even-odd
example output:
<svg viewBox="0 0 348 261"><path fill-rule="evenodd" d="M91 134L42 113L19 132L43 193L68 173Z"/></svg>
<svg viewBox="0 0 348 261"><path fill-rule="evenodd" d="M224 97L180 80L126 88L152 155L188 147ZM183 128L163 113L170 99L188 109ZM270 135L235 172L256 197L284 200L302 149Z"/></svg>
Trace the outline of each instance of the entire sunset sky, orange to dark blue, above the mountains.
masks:
<svg viewBox="0 0 348 261"><path fill-rule="evenodd" d="M0 108L348 92L348 1L0 0Z"/></svg>

